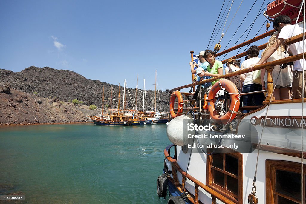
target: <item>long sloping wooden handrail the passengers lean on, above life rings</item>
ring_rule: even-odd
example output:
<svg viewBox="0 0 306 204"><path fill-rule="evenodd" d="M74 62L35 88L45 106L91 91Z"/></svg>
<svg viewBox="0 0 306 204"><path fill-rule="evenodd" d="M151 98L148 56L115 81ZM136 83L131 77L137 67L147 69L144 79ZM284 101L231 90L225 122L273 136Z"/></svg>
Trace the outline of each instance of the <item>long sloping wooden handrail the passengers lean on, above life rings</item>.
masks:
<svg viewBox="0 0 306 204"><path fill-rule="evenodd" d="M253 71L259 70L259 69L265 69L268 66L281 65L281 64L286 63L286 62L296 61L296 60L305 58L305 56L306 56L306 53L304 53L304 57L303 57L303 53L301 53L301 54L293 55L293 56L286 57L286 58L283 58L283 59L267 62L267 63L261 64L261 65L255 66ZM243 70L240 70L240 71L237 71L237 72L232 72L232 73L225 74L225 75L222 75L222 76L217 76L217 77L214 77L214 78L211 78L211 79L205 79L205 80L197 82L197 83L190 83L190 84L187 84L185 86L177 87L177 88L171 89L169 92L172 93L175 90L181 90L183 88L188 88L188 87L192 87L192 86L195 86L195 85L200 85L200 84L203 84L203 83L215 81L215 80L218 80L218 79L222 79L224 77L232 77L232 76L236 76L236 75L240 75L240 74L245 74L245 73L248 73L248 72L251 72L251 71L249 71L248 69L243 69Z"/></svg>

